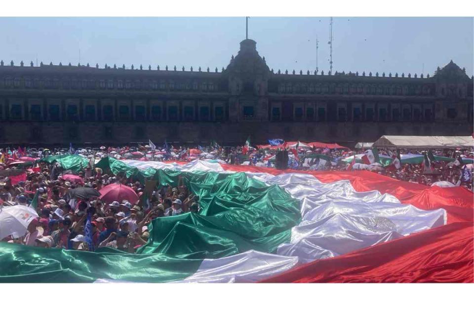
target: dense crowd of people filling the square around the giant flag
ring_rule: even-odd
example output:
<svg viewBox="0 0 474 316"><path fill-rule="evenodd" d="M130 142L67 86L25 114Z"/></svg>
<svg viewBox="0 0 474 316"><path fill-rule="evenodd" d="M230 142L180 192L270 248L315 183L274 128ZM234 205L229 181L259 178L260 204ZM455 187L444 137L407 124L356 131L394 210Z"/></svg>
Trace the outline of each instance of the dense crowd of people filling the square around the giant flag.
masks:
<svg viewBox="0 0 474 316"><path fill-rule="evenodd" d="M220 163L245 164L262 167L275 167L272 159L277 149L256 149L251 147L222 148L219 146L198 147L195 150L188 148L154 148L139 146L136 148L97 148L79 149L72 151L75 155L84 158L114 157L136 158L140 160L183 160L194 159L214 160ZM284 150L284 149L283 149ZM23 236L10 234L1 241L21 243L47 248L64 248L76 250L94 250L101 247L112 247L127 252L135 252L140 246L147 243L150 237L149 224L157 217L174 216L186 212L198 212L198 197L189 192L189 188L180 179L176 187L155 187L148 202L145 204L140 198L145 192L145 185L140 182L131 182L123 172L113 174L104 173L100 168L87 165L76 172L79 181L68 181L65 174L68 170L58 172L58 163L39 162L35 160L61 152L44 149L19 149L11 152L4 149L0 158L0 171L27 169L24 181L12 183L11 173L0 173L0 207L25 205L34 207L38 218L32 220ZM348 163L347 158L355 159L364 154L367 149L349 150L347 148L327 149L296 147L290 150L289 167L309 170L348 170L354 163ZM6 154L5 154L6 153ZM11 153L11 155L10 155ZM389 150L379 149L379 155L392 156ZM426 154L419 151L403 151L401 154ZM462 150L435 151L435 155L442 157L472 158L473 153ZM17 161L10 156L23 155L35 160L31 168L23 164L11 163ZM316 155L316 159L314 158ZM5 158L7 156L7 158ZM310 157L310 158L307 158ZM311 158L313 157L313 158ZM14 157L18 158L18 157ZM321 160L327 159L324 164ZM345 161L346 159L346 161ZM473 190L472 164L470 168L460 163L446 161L432 161L431 171L427 172L426 165L404 163L399 167L394 164L382 166L372 171L395 178L431 186L439 181L447 181L453 186L464 186ZM469 170L470 178L463 172ZM77 188L92 188L100 191L104 186L123 184L129 186L138 197L133 203L129 200L104 201L99 196L71 198L68 193ZM87 226L87 227L86 227ZM91 230L86 236L85 231ZM91 238L90 238L91 236Z"/></svg>

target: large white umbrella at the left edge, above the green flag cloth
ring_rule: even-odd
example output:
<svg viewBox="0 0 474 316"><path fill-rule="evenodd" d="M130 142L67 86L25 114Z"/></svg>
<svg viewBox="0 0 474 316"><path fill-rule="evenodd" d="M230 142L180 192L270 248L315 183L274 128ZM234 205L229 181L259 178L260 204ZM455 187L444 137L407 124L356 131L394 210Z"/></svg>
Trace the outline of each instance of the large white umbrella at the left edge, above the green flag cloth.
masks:
<svg viewBox="0 0 474 316"><path fill-rule="evenodd" d="M38 213L25 205L5 206L0 210L0 239L12 234L23 236Z"/></svg>

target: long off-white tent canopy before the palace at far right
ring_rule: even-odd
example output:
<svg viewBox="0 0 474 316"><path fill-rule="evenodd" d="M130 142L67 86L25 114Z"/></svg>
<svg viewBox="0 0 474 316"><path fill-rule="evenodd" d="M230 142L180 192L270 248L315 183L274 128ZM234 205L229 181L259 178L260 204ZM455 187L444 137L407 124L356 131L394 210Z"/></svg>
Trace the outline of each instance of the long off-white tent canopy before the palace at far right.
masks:
<svg viewBox="0 0 474 316"><path fill-rule="evenodd" d="M395 148L470 148L473 147L472 136L395 136L380 137L373 147Z"/></svg>

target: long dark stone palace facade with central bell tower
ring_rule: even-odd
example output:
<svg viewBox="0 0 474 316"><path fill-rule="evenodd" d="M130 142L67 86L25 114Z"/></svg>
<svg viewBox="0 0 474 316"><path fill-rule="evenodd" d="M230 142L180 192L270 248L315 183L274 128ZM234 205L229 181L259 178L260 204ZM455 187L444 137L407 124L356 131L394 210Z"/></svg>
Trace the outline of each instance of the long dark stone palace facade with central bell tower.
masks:
<svg viewBox="0 0 474 316"><path fill-rule="evenodd" d="M470 135L473 78L270 70L254 40L226 69L0 63L0 144L351 144L381 135Z"/></svg>

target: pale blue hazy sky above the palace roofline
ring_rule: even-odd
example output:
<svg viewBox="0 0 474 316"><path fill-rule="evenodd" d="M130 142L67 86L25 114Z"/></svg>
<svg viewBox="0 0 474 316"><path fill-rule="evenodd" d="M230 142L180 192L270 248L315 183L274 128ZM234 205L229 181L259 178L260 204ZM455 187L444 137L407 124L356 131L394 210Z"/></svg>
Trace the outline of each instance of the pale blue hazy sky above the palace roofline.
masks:
<svg viewBox="0 0 474 316"><path fill-rule="evenodd" d="M473 18L335 17L334 71L433 75L451 59L474 72ZM245 39L245 18L0 18L0 59L49 64L167 64L220 70ZM275 71L329 70L329 18L251 17L249 38ZM423 66L424 64L424 66Z"/></svg>

